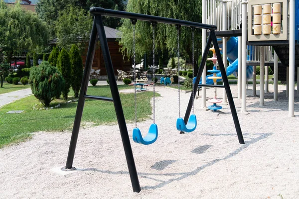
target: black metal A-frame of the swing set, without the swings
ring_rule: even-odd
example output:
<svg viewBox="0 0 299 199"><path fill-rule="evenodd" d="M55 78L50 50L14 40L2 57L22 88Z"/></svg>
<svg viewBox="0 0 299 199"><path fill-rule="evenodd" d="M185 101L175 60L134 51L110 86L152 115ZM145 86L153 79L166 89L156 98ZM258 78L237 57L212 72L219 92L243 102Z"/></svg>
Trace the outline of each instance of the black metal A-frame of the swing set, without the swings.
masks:
<svg viewBox="0 0 299 199"><path fill-rule="evenodd" d="M125 151L125 155L126 155L126 159L127 159L127 164L128 164L128 169L129 169L129 173L130 173L133 192L141 191L139 179L138 179L138 175L137 175L137 170L136 170L136 165L135 165L135 161L134 161L134 157L133 157L133 152L132 152L132 148L131 148L131 144L130 144L126 120L125 120L123 107L122 107L122 103L121 103L121 99L120 99L120 94L119 94L116 79L114 76L113 65L112 65L112 60L111 60L111 56L110 56L110 52L109 52L109 48L108 48L108 42L107 42L105 30L104 30L102 16L129 18L129 19L143 20L143 21L149 21L149 22L166 23L166 24L181 25L181 26L188 26L191 28L201 28L201 29L209 30L210 34L208 36L207 44L205 46L203 56L202 56L202 61L200 63L200 67L199 67L198 73L196 75L196 81L195 81L195 85L193 88L194 89L193 92L197 91L198 83L199 83L200 77L202 75L202 72L204 70L205 62L207 60L209 48L210 48L211 43L213 42L224 85L200 85L200 86L201 87L206 86L206 87L225 88L227 98L229 101L229 105L230 105L230 109L231 109L231 112L233 115L233 120L235 123L239 143L244 144L244 139L243 139L236 107L235 107L235 104L233 101L233 96L232 96L232 93L231 93L231 90L230 90L230 87L228 84L226 71L225 71L225 68L223 65L219 46L217 43L217 38L216 38L216 34L215 34L215 30L216 30L215 25L208 25L208 24L203 24L203 23L197 23L197 22L191 22L191 21L185 21L185 20L179 20L179 19L172 19L172 18L165 18L165 17L159 17L159 16L152 16L152 15L146 15L146 14L139 14L139 13L132 13L132 12L126 12L126 11L110 10L110 9L104 9L101 7L91 7L90 12L91 12L91 14L94 15L94 21L93 21L93 26L92 26L92 30L91 30L90 41L89 41L86 63L85 63L85 69L84 69L84 74L83 74L83 80L82 80L81 90L80 90L80 94L79 94L79 100L78 100L78 105L77 105L77 110L76 110L76 115L75 115L75 120L74 120L72 137L71 137L70 146L69 146L69 152L68 152L66 166L65 166L66 169L71 169L73 166L73 160L74 160L74 155L75 155L75 150L76 150L76 145L77 145L77 140L78 140L79 128L80 128L85 99L112 101L114 103L115 112L117 115L117 120L118 120L120 133L121 133L121 137L122 137L122 142L123 142L123 146L124 146L124 151ZM89 75L90 75L90 71L92 69L92 63L93 63L93 59L94 59L94 55L95 55L98 37L99 37L101 49L103 52L103 57L104 57L105 67L106 67L107 76L108 76L108 80L109 80L109 84L110 84L112 98L86 95L87 88L88 88ZM184 116L185 123L187 123L187 121L188 121L191 109L192 109L192 95L190 97L190 100L189 100L189 103L187 106L187 110L186 110L186 113Z"/></svg>

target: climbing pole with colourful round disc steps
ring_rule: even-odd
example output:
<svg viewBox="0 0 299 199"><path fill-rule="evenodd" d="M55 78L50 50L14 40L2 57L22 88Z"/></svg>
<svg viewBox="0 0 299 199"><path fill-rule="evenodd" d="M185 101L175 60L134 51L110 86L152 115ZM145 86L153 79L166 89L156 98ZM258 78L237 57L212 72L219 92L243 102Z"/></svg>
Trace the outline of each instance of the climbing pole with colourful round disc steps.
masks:
<svg viewBox="0 0 299 199"><path fill-rule="evenodd" d="M220 48L220 50L221 50L221 48ZM217 84L217 80L222 79L222 77L217 77L217 75L216 75L216 74L219 73L220 71L217 70L217 56L216 56L214 47L213 47L213 48L210 48L210 51L213 52L213 57L212 57L212 58L208 58L208 60L213 61L214 66L213 66L213 70L208 70L209 73L213 73L213 76L208 77L208 79L213 80L214 85L216 85L216 84ZM221 103L222 100L217 99L217 87L214 87L214 89L215 89L215 92L214 92L214 98L208 100L208 102L213 103L213 105L208 106L208 108L209 108L210 110L217 111L217 110L219 110L219 109L222 108L222 106L217 105L217 103Z"/></svg>

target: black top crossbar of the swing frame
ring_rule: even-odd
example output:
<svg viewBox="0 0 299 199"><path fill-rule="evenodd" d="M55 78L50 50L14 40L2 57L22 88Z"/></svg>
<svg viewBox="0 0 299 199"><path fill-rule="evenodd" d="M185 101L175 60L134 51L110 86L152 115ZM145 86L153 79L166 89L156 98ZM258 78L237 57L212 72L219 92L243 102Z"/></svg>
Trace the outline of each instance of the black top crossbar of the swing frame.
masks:
<svg viewBox="0 0 299 199"><path fill-rule="evenodd" d="M197 23L193 21L166 18L161 16L152 16L148 14L140 14L140 13L126 12L126 11L113 10L113 9L104 9L102 7L91 7L89 11L91 14L94 15L137 19L141 21L155 21L157 23L166 23L166 24L174 24L174 25L181 25L181 26L188 26L188 27L195 27L195 28L203 28L207 30L217 29L216 25L209 25L209 24Z"/></svg>

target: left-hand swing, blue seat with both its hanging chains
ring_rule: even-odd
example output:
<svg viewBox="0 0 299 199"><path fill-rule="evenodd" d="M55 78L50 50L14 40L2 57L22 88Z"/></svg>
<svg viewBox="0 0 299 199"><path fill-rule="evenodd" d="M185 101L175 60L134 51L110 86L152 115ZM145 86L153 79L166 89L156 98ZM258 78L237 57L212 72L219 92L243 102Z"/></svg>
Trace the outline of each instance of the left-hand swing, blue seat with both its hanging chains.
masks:
<svg viewBox="0 0 299 199"><path fill-rule="evenodd" d="M133 24L134 28L133 28L133 31L134 31L134 71L136 70L136 64L135 64L135 24ZM152 31L153 31L153 40L154 40L154 28L152 28ZM154 48L153 48L153 60L154 60ZM154 63L153 63L153 66L154 66ZM154 89L154 81L153 81L153 123L150 125L149 127L149 132L147 134L146 137L142 137L142 134L141 134L141 131L139 128L137 128L137 93L136 93L136 90L137 90L137 87L136 87L136 76L134 76L134 93L135 93L135 128L133 129L133 141L136 142L136 143L139 143L139 144L144 144L144 145L149 145L149 144L152 144L154 143L157 138L158 138L158 127L157 125L154 123L154 100L155 100L155 89ZM153 79L155 79L155 75L153 73Z"/></svg>

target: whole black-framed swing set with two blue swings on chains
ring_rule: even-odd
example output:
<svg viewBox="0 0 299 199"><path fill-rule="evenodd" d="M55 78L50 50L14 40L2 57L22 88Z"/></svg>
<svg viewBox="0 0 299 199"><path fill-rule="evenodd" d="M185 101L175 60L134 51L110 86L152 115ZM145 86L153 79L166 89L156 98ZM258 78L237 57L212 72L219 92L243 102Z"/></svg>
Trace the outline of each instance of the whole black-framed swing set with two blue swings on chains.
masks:
<svg viewBox="0 0 299 199"><path fill-rule="evenodd" d="M196 115L194 114L194 93L196 92L199 84L200 77L202 75L202 72L204 70L204 65L207 60L209 48L211 46L211 43L213 42L215 53L218 59L219 68L221 71L222 79L224 85L200 85L200 86L206 86L206 87L221 87L225 88L227 98L229 101L230 109L232 112L235 128L237 131L237 136L239 139L240 144L244 144L244 139L237 115L237 111L235 108L235 104L233 101L233 97L231 94L231 90L228 84L228 79L226 76L226 71L223 65L223 61L221 58L219 46L217 43L217 38L215 34L215 30L217 29L215 25L208 25L203 23L197 23L197 22L191 22L191 21L185 21L185 20L179 20L179 19L173 19L173 18L165 18L165 17L159 17L159 16L152 16L152 15L146 15L146 14L139 14L139 13L132 13L132 12L126 12L126 11L119 11L119 10L111 10L111 9L104 9L101 7L91 7L90 8L91 14L94 15L94 21L93 26L91 30L91 36L89 41L89 47L87 51L86 56L86 63L85 63L85 69L83 74L83 80L82 85L80 89L79 94L79 100L74 120L74 126L72 130L72 136L66 161L65 170L72 170L73 168L73 161L74 161L74 155L78 140L78 134L79 134L79 128L84 108L85 99L92 99L92 100L105 100L105 101L111 101L114 103L115 112L117 115L117 120L120 128L120 134L124 146L124 151L126 155L126 160L128 164L129 174L131 178L131 183L133 187L134 192L140 192L140 184L139 179L137 175L136 165L133 157L133 152L130 144L128 129L126 125L126 120L123 112L123 107L119 95L119 90L117 87L116 79L114 76L114 70L112 65L112 60L108 48L108 42L104 30L104 25L102 21L102 16L112 16L112 17L119 17L119 18L128 18L131 19L131 22L133 24L133 48L134 48L134 96L135 96L135 128L133 129L133 140L136 143L149 145L154 143L157 140L158 137L158 127L155 124L155 83L153 82L153 123L149 127L149 131L147 136L143 137L141 134L141 130L137 127L137 81L136 81L136 63L135 63L135 24L137 20L143 20L148 21L151 23L152 26L152 51L153 51L153 65L154 65L154 49L155 49L155 26L156 23L166 23L166 24L172 24L175 25L177 28L177 57L179 59L179 32L181 26L187 26L190 27L192 30L192 67L193 67L193 79L194 79L194 31L196 28L200 29L206 29L210 31L210 34L207 39L207 44L205 46L203 55L202 55L202 61L200 63L199 70L196 75L196 80L192 85L192 95L190 96L190 100L188 102L188 106L185 112L184 118L180 115L180 84L178 82L178 118L176 121L176 128L180 131L180 133L184 132L192 132L195 130L197 126L197 120ZM112 94L112 98L107 97L99 97L99 96L89 96L86 95L87 88L88 88L88 80L89 80L89 74L92 69L92 63L93 58L95 55L96 50L96 44L97 40L100 40L101 49L104 57L105 67L107 71L108 80L110 83L110 90ZM180 69L179 66L179 60L178 60L178 71ZM153 74L153 78L155 78L155 75ZM179 79L179 75L178 75ZM192 114L191 113L192 109Z"/></svg>

